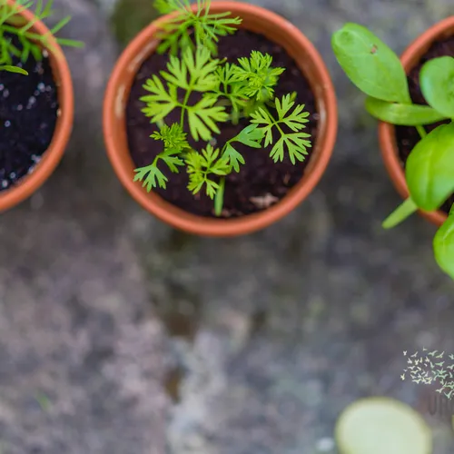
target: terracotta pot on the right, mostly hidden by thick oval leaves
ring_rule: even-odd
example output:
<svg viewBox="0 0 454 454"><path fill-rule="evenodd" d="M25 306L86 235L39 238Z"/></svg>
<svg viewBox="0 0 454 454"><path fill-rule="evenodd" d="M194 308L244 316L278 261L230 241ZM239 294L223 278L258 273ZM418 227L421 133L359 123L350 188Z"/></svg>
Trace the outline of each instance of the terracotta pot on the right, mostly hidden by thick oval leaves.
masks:
<svg viewBox="0 0 454 454"><path fill-rule="evenodd" d="M411 69L419 64L421 57L426 54L431 44L439 39L448 38L452 35L454 35L454 15L433 25L425 33L419 35L400 57L406 73L409 74ZM394 125L380 122L379 139L381 154L388 173L390 173L391 180L400 195L406 199L409 197L410 192L405 181L404 166L399 157ZM424 212L421 210L419 213L436 225L441 225L448 218L446 212L440 210L436 212Z"/></svg>

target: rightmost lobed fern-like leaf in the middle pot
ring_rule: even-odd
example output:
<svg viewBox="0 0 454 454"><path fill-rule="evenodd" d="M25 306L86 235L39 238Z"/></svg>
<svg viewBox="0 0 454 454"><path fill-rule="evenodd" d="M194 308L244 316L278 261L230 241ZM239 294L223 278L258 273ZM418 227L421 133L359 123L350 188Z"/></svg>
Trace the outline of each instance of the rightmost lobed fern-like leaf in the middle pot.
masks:
<svg viewBox="0 0 454 454"><path fill-rule="evenodd" d="M311 134L301 133L301 129L305 127L305 123L309 120L307 117L309 113L304 112L304 105L298 104L292 112L291 108L294 106L294 101L291 101L291 95L287 94L275 100L276 112L278 118L275 119L270 112L263 107L260 107L252 116L252 123L260 125L260 130L265 136L265 146L273 143L273 130L276 129L281 137L274 143L270 156L272 160L277 163L284 159L285 149L289 154L292 164L296 161L303 161L304 155L307 154L307 148L311 147L311 142L307 138ZM293 133L285 133L282 127L286 126Z"/></svg>

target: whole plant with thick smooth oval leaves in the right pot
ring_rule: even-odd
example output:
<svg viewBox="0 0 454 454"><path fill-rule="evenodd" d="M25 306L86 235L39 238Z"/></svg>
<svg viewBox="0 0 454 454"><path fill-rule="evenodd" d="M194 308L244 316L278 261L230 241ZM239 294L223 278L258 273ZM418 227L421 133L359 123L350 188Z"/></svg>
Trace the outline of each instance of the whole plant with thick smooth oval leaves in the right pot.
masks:
<svg viewBox="0 0 454 454"><path fill-rule="evenodd" d="M405 178L410 197L383 222L396 226L417 210L438 210L454 192L454 58L423 64L419 85L428 105L413 104L400 59L367 28L346 24L332 36L332 48L345 74L367 94L366 109L382 122L415 126L420 141L410 153ZM426 133L425 124L449 121ZM454 210L433 242L439 267L454 279Z"/></svg>

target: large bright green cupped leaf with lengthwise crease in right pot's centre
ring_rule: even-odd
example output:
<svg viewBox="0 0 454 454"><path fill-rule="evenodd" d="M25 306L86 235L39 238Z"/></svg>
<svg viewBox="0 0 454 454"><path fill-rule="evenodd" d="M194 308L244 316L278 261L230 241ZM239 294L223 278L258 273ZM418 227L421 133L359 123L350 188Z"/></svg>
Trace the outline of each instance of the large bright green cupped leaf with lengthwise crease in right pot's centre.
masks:
<svg viewBox="0 0 454 454"><path fill-rule="evenodd" d="M454 192L454 124L442 124L421 139L405 171L411 198L431 212Z"/></svg>

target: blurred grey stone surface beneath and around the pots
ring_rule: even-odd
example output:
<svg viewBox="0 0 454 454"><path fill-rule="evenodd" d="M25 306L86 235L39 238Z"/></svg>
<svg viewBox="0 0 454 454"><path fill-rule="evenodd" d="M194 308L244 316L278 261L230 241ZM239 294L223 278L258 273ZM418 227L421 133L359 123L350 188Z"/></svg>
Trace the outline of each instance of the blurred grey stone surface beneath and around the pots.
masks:
<svg viewBox="0 0 454 454"><path fill-rule="evenodd" d="M400 198L330 47L357 21L400 52L451 3L261 0L325 58L341 126L300 208L226 240L175 232L123 191L102 137L114 3L55 5L86 47L67 52L76 116L63 163L1 215L0 452L334 454L341 410L387 395L424 414L434 454L451 453L448 416L429 415L434 390L400 373L402 350L454 352L453 283L427 222L381 230Z"/></svg>

